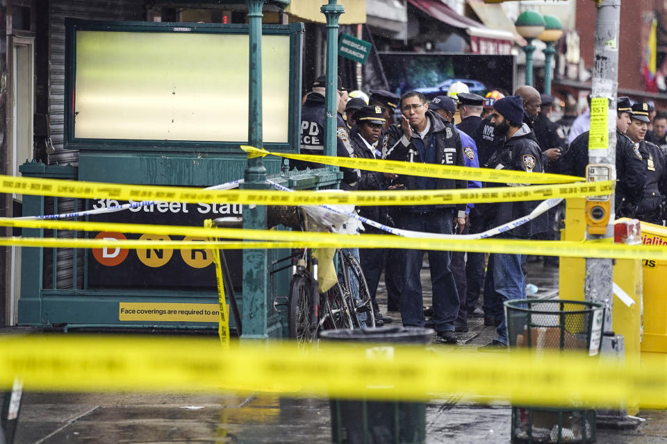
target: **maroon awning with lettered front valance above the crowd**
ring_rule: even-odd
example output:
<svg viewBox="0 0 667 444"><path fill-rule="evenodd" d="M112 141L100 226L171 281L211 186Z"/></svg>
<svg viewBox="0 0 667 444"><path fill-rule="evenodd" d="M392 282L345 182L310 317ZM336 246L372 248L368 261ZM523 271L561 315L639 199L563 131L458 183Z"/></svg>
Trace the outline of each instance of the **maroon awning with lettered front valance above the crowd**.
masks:
<svg viewBox="0 0 667 444"><path fill-rule="evenodd" d="M440 0L408 0L426 15L470 35L470 47L474 53L509 53L514 35L508 31L487 28L483 24L458 14Z"/></svg>

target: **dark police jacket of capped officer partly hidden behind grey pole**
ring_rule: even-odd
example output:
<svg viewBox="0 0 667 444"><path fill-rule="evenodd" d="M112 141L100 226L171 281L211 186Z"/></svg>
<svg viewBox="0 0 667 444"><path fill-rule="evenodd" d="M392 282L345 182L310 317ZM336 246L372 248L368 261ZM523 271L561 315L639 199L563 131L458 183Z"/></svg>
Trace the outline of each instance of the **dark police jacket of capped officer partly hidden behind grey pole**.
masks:
<svg viewBox="0 0 667 444"><path fill-rule="evenodd" d="M563 155L559 173L570 176L586 176L588 164L588 134L586 131L575 137ZM646 182L646 167L643 162L645 147L637 148L626 135L616 131L616 191L614 205L617 217L634 217ZM643 152L642 152L643 151Z"/></svg>

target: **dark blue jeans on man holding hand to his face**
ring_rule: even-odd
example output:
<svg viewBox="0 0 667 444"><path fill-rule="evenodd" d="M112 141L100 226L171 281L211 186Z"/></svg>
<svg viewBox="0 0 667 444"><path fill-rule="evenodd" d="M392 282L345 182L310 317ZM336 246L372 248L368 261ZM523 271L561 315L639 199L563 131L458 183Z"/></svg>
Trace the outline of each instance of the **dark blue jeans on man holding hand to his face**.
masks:
<svg viewBox="0 0 667 444"><path fill-rule="evenodd" d="M405 212L397 217L396 225L405 230L440 234L452 233L452 210L434 210L429 213ZM403 325L424 327L422 281L420 271L424 250L405 251L405 283L401 291ZM451 251L429 250L431 287L433 288L433 321L436 331L454 331L454 320L459 312L459 293L452 275Z"/></svg>

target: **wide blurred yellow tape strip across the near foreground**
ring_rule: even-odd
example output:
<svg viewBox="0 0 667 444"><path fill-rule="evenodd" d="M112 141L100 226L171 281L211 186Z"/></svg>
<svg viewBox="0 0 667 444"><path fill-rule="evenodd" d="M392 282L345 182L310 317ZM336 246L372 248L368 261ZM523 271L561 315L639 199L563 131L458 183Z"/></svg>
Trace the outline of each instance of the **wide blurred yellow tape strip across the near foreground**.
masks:
<svg viewBox="0 0 667 444"><path fill-rule="evenodd" d="M664 361L520 349L443 352L440 347L320 341L232 343L156 336L21 336L0 339L0 386L14 377L43 391L271 391L290 396L429 400L459 393L480 402L667 407Z"/></svg>

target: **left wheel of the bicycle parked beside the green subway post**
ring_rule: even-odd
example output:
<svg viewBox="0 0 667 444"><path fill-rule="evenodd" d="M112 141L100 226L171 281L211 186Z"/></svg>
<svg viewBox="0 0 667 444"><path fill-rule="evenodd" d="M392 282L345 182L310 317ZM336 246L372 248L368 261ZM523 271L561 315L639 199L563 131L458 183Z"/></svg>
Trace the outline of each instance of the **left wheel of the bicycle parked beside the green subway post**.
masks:
<svg viewBox="0 0 667 444"><path fill-rule="evenodd" d="M290 285L288 305L288 331L290 339L296 339L299 348L311 343L317 336L317 325L311 325L311 281L295 275Z"/></svg>

